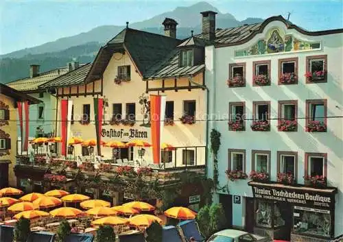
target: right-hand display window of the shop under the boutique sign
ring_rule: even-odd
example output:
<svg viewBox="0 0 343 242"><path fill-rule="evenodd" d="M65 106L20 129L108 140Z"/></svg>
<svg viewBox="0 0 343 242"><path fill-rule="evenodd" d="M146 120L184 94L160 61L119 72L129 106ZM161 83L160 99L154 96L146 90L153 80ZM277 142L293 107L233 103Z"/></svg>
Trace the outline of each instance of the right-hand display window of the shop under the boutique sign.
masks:
<svg viewBox="0 0 343 242"><path fill-rule="evenodd" d="M329 210L294 206L293 232L318 237L331 237L331 214Z"/></svg>

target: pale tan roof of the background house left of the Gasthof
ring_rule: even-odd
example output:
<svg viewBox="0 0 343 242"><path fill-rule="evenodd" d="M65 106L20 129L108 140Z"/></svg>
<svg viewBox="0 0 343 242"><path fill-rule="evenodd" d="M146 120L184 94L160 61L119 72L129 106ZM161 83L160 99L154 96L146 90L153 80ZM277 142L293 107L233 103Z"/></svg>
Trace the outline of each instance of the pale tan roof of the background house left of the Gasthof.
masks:
<svg viewBox="0 0 343 242"><path fill-rule="evenodd" d="M40 85L43 85L51 80L54 80L56 77L60 75L64 75L68 72L68 70L69 69L67 66L61 67L58 69L40 73L36 77L26 77L23 79L16 80L14 82L8 83L7 85L16 90L21 90L24 92L34 92L36 90L40 90Z"/></svg>

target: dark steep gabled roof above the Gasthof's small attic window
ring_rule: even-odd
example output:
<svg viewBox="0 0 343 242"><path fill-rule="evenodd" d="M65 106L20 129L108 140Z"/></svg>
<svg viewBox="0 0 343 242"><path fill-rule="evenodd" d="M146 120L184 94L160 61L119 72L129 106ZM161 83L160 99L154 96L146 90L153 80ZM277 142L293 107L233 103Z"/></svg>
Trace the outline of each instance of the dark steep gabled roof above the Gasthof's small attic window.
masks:
<svg viewBox="0 0 343 242"><path fill-rule="evenodd" d="M180 43L181 40L176 38L127 27L99 50L91 71L86 77L86 82L91 82L102 76L115 51L127 50L137 66L137 71L145 76L148 69L163 60Z"/></svg>

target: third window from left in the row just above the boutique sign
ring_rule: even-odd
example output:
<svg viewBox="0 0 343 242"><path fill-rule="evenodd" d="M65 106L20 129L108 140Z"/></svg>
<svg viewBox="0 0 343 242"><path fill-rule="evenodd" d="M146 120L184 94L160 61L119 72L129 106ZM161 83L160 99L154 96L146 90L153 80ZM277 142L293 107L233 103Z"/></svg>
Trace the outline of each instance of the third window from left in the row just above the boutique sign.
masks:
<svg viewBox="0 0 343 242"><path fill-rule="evenodd" d="M298 176L298 153L297 152L277 152L278 163L277 172L278 173L292 173L294 179L296 180Z"/></svg>

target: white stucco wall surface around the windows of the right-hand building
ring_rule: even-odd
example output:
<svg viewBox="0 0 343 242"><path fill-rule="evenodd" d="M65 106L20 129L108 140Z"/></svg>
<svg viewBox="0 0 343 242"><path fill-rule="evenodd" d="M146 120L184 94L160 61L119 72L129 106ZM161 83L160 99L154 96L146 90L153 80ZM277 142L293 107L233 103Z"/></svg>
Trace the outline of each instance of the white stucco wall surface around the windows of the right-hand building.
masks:
<svg viewBox="0 0 343 242"><path fill-rule="evenodd" d="M263 38L270 27L280 27L287 34L309 41L321 41L322 49L318 51L303 51L297 53L273 53L263 56L234 57L234 51L244 49ZM342 82L342 53L343 34L327 36L305 36L295 29L287 29L279 21L269 23L263 33L258 34L244 45L221 47L213 50L206 47L206 83L215 82L210 86L210 113L228 114L228 104L231 101L245 101L246 114L252 118L252 101L271 101L271 118L277 118L278 101L298 99L298 117L305 117L306 99L327 99L327 116L343 116L343 82ZM327 83L305 83L306 56L327 54L328 77ZM281 58L298 57L298 84L278 85L278 60ZM252 62L271 60L271 86L252 86ZM246 62L246 87L228 88L228 64ZM213 73L215 72L215 75ZM228 183L230 194L252 196L251 188L246 184L248 180L228 182L224 171L228 169L228 149L246 149L246 173L251 171L251 150L263 149L271 151L271 180L276 180L276 152L298 152L298 183L303 183L305 152L327 153L327 179L329 186L338 187L335 206L335 234L343 233L343 125L342 118L327 119L327 132L305 132L305 119L298 119L298 132L278 132L277 120L272 120L270 132L253 132L251 121L246 121L245 132L228 131L227 121L213 123L213 128L222 134L222 145L219 152L220 185ZM211 161L211 158L209 159ZM209 163L211 176L212 165ZM234 220L235 221L235 220Z"/></svg>

